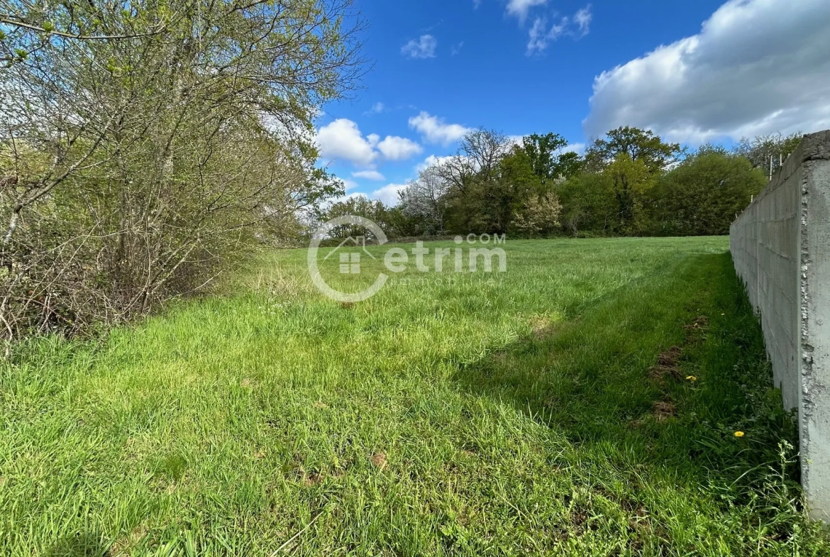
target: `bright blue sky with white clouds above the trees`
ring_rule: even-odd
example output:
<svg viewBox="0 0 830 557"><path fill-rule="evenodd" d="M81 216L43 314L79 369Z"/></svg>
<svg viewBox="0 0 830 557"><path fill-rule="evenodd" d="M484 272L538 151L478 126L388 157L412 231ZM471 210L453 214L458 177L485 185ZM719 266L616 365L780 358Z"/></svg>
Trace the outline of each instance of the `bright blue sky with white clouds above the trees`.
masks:
<svg viewBox="0 0 830 557"><path fill-rule="evenodd" d="M827 0L357 0L370 67L317 121L348 193L393 203L466 129L618 125L684 144L830 127ZM808 92L809 95L805 93Z"/></svg>

